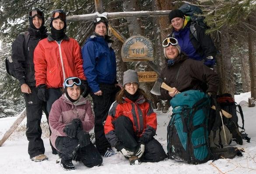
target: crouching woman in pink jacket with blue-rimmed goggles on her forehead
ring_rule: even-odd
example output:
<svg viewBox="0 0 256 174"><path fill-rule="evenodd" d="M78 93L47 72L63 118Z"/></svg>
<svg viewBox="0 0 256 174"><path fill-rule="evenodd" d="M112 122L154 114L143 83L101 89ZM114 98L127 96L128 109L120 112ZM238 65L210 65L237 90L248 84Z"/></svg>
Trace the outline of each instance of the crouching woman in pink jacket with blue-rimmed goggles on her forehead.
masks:
<svg viewBox="0 0 256 174"><path fill-rule="evenodd" d="M80 95L81 80L69 77L64 81L64 94L56 100L49 114L52 131L50 140L59 151L64 169L74 169L76 157L87 167L99 166L102 157L90 141L89 131L94 126L90 101Z"/></svg>

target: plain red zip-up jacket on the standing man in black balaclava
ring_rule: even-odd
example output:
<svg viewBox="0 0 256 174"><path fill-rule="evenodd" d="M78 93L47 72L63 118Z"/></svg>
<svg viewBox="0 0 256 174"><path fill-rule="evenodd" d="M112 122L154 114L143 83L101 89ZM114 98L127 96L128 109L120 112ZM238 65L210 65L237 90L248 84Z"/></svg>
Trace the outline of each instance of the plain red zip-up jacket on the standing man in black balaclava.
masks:
<svg viewBox="0 0 256 174"><path fill-rule="evenodd" d="M36 86L63 87L67 77L86 80L81 48L76 40L64 37L60 44L51 36L41 40L34 51Z"/></svg>

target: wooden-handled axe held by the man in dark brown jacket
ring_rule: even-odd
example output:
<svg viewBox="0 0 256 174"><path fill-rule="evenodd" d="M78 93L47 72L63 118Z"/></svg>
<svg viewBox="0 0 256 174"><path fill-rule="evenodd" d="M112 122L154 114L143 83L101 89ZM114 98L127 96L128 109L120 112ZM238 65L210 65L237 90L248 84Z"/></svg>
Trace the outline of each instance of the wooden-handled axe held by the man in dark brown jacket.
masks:
<svg viewBox="0 0 256 174"><path fill-rule="evenodd" d="M168 91L170 91L170 92L173 91L173 88L172 88L172 87L170 87L170 86L168 86L166 83L164 83L162 79L157 78L157 79L156 79L156 82L155 82L154 86L152 87L152 89L150 90L150 92L151 92L152 94L154 94L154 95L161 95L161 93L160 93L160 88L163 88L163 89L168 90ZM211 108L214 109L214 110L216 110L216 107L215 107L214 105L213 105ZM222 109L221 109L221 112L222 112L222 114L223 114L226 118L231 118L231 117L232 117L232 115L229 114L228 112L226 112L225 110L222 110Z"/></svg>

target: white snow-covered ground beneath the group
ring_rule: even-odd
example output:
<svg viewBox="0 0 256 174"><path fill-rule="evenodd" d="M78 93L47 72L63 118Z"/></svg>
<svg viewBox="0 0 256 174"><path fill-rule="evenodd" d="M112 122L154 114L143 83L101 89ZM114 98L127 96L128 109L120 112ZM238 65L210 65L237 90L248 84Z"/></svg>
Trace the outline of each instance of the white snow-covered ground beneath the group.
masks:
<svg viewBox="0 0 256 174"><path fill-rule="evenodd" d="M235 147L244 148L245 153L243 153L242 157L208 161L205 164L197 165L166 159L158 163L142 163L141 165L131 166L123 155L116 154L113 157L104 157L103 164L100 167L87 168L82 163L74 161L76 170L64 171L59 164L55 163L58 155L51 153L47 123L44 117L42 123L44 133L42 137L45 143L45 154L49 157L49 160L36 163L29 159L28 141L25 136L26 120L24 120L0 147L0 174L218 174L221 172L226 174L256 174L256 107L247 107L246 101L248 97L250 97L250 93L235 96L237 103L241 102L246 132L251 137L251 143L244 141L242 146L232 142ZM16 118L0 119L0 139ZM170 118L168 114L159 112L157 119L156 139L166 151L166 127Z"/></svg>

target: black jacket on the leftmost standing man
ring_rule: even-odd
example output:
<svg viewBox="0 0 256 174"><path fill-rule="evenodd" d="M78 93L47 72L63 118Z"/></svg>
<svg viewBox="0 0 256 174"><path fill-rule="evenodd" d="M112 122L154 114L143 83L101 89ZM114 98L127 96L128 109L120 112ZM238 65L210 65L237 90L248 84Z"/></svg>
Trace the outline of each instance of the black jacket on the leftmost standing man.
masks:
<svg viewBox="0 0 256 174"><path fill-rule="evenodd" d="M21 85L35 86L34 50L39 40L47 37L46 31L45 27L42 27L40 31L29 27L29 40L26 48L24 34L18 35L17 39L12 43L12 59L17 79Z"/></svg>

